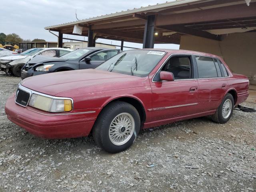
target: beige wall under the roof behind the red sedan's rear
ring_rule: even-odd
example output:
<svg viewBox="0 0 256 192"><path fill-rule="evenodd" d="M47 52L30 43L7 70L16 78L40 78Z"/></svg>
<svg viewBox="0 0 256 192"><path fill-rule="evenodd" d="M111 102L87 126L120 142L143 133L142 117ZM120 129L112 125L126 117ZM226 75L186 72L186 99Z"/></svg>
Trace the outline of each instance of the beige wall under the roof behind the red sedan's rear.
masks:
<svg viewBox="0 0 256 192"><path fill-rule="evenodd" d="M228 34L222 41L197 36L181 36L180 49L218 55L235 73L248 76L256 84L256 32Z"/></svg>

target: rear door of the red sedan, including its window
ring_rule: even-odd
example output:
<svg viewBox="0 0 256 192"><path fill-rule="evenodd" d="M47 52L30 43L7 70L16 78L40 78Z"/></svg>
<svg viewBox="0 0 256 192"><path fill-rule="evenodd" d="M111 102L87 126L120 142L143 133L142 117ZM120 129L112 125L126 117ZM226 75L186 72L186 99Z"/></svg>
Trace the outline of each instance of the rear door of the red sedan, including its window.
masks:
<svg viewBox="0 0 256 192"><path fill-rule="evenodd" d="M206 112L218 108L227 89L227 81L216 58L194 56L198 70L198 110Z"/></svg>

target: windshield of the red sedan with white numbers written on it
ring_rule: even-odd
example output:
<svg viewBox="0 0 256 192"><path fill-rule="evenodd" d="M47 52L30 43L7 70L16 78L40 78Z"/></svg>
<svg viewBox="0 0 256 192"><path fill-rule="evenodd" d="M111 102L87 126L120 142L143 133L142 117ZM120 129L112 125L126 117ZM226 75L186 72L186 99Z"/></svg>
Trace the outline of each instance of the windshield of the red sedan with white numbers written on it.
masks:
<svg viewBox="0 0 256 192"><path fill-rule="evenodd" d="M152 50L129 50L110 58L97 70L110 71L138 77L147 76L166 52Z"/></svg>

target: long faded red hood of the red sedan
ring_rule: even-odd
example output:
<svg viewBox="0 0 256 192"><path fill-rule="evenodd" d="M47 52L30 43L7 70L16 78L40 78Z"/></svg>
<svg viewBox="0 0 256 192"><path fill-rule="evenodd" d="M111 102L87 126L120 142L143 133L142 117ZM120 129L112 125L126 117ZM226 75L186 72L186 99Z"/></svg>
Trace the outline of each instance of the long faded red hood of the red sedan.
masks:
<svg viewBox="0 0 256 192"><path fill-rule="evenodd" d="M52 96L71 97L78 94L148 86L149 80L148 76L141 78L114 72L84 69L32 76L24 79L21 85Z"/></svg>

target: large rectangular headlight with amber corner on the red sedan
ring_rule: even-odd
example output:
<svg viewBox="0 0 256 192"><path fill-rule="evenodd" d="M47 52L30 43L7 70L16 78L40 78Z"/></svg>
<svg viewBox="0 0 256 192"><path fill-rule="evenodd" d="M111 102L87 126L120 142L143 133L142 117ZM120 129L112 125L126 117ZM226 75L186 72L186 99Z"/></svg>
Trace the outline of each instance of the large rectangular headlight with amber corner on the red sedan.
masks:
<svg viewBox="0 0 256 192"><path fill-rule="evenodd" d="M32 94L28 105L48 112L68 112L72 110L71 99L54 99L38 94Z"/></svg>

